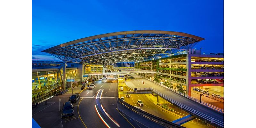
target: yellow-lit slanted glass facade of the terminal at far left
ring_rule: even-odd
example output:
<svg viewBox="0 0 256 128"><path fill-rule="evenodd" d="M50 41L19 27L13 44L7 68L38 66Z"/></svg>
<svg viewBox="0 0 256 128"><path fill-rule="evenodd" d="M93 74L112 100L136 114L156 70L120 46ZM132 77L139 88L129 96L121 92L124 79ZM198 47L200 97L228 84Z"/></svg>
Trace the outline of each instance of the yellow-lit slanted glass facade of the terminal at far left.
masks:
<svg viewBox="0 0 256 128"><path fill-rule="evenodd" d="M32 102L39 102L63 91L61 74L63 70L32 72ZM78 69L66 69L66 78L79 79Z"/></svg>

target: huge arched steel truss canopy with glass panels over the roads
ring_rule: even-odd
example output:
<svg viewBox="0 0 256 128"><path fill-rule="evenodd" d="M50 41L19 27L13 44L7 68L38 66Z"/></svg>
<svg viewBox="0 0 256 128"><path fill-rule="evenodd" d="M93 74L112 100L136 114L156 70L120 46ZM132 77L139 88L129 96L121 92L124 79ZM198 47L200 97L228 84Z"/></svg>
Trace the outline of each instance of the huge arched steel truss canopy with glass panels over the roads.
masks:
<svg viewBox="0 0 256 128"><path fill-rule="evenodd" d="M85 37L47 52L65 62L114 64L136 62L187 51L204 38L172 31L124 31Z"/></svg>

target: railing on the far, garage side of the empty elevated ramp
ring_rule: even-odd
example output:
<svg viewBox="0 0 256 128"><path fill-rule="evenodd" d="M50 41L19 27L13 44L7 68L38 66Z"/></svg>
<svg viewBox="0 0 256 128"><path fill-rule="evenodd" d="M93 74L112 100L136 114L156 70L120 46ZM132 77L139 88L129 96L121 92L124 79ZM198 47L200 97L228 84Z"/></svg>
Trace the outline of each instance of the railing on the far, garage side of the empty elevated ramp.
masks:
<svg viewBox="0 0 256 128"><path fill-rule="evenodd" d="M143 76L142 76L142 77L143 77ZM218 111L218 112L220 112L220 113L224 113L224 110L221 109L221 108L218 108L218 107L216 107L216 106L214 106L214 105L208 104L208 103L206 103L206 102L204 102L204 101L200 101L200 100L198 100L198 99L196 99L196 98L193 98L193 97L191 97L191 96L189 96L189 95L186 95L186 94L184 94L184 93L178 92L178 91L175 90L175 89L172 89L172 88L169 88L169 87L167 87L167 86L164 86L164 85L162 85L162 84L160 84L160 83L157 83L157 82L155 82L155 81L152 81L152 80L150 80L150 79L148 79L148 78L146 78L146 77L144 77L144 78L147 79L147 80L149 80L149 81L151 81L151 82L153 82L153 83L155 83L155 84L158 84L158 85L160 85L160 86L162 86L162 87L164 87L164 88L166 88L166 89L168 89L168 90L170 90L170 91L172 91L172 92L176 92L176 93L178 93L178 94L180 94L180 95L182 95L182 96L184 96L184 97L187 97L187 98L190 99L190 100L196 101L197 103L200 103L201 105L204 105L205 107L211 108L211 109L213 109L213 110L215 110L215 111Z"/></svg>

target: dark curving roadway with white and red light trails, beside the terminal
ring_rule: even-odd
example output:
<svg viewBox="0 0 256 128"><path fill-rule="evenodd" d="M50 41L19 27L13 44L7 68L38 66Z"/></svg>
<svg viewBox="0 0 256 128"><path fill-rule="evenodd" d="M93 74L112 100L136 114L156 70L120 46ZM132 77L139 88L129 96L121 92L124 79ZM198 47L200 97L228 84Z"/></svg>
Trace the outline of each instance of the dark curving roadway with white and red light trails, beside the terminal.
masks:
<svg viewBox="0 0 256 128"><path fill-rule="evenodd" d="M78 87L80 88L80 87ZM79 92L81 90L78 90ZM75 92L74 92L75 93ZM54 96L47 100L47 105L41 103L37 108L32 109L32 117L42 127L56 128L102 128L108 124L112 128L146 128L143 124L136 120L130 120L131 117L117 110L117 79L109 77L102 81L97 81L96 86L92 90L85 89L80 92L80 99L73 103L74 116L61 118L61 108L64 102L68 101L70 93ZM100 98L97 98L101 96ZM60 111L59 111L59 99ZM107 114L116 122L116 125ZM96 108L97 110L96 110ZM98 112L97 112L98 111ZM101 116L101 117L100 117ZM103 123L103 120L106 123Z"/></svg>

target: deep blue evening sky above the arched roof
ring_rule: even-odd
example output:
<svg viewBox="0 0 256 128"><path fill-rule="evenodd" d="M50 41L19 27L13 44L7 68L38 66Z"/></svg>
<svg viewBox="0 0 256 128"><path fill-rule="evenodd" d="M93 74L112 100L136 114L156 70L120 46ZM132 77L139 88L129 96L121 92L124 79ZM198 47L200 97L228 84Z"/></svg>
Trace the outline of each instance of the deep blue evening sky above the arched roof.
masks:
<svg viewBox="0 0 256 128"><path fill-rule="evenodd" d="M129 30L177 31L205 40L194 48L223 53L221 0L33 0L32 60L60 61L41 52L99 34Z"/></svg>

